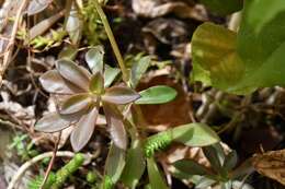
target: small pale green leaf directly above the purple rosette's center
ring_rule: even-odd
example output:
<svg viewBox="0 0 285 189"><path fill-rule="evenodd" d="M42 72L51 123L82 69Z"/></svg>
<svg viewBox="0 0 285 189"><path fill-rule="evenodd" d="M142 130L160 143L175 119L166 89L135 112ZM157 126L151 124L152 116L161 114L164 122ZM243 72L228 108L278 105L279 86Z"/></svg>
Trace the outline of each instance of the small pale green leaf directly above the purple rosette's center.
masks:
<svg viewBox="0 0 285 189"><path fill-rule="evenodd" d="M87 63L92 71L92 73L103 72L103 58L104 58L104 49L102 46L92 47L86 54Z"/></svg>

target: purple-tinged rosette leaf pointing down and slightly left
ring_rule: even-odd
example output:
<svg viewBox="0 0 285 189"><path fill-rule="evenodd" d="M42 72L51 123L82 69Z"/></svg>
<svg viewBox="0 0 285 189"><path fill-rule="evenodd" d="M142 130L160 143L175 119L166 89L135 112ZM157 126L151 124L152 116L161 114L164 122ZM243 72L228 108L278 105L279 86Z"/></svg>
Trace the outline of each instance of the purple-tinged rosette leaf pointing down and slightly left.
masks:
<svg viewBox="0 0 285 189"><path fill-rule="evenodd" d="M72 149L78 152L91 139L98 118L98 109L93 107L87 115L84 115L79 122L77 122L75 130L70 135Z"/></svg>

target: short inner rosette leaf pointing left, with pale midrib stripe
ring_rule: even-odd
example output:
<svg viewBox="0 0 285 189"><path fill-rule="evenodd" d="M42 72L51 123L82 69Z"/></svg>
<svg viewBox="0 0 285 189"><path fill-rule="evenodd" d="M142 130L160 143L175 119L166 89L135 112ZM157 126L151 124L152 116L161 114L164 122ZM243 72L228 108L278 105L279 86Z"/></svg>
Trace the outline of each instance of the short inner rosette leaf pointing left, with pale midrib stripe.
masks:
<svg viewBox="0 0 285 189"><path fill-rule="evenodd" d="M82 93L82 94L76 94L66 99L60 107L59 113L61 115L71 115L76 114L78 111L81 111L91 104L91 98L89 94Z"/></svg>

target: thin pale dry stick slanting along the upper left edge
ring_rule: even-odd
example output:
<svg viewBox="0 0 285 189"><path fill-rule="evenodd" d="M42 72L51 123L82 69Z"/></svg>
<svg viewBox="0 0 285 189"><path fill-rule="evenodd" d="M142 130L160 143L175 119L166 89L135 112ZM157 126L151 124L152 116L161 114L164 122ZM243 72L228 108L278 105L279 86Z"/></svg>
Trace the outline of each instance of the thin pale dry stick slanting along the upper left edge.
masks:
<svg viewBox="0 0 285 189"><path fill-rule="evenodd" d="M16 16L15 16L15 21L14 21L14 25L12 28L12 34L11 37L9 39L9 43L7 45L5 48L5 52L4 52L4 57L3 57L3 64L0 68L0 86L2 85L2 80L3 80L3 74L10 63L10 58L12 56L13 49L14 49L14 40L15 40L15 36L16 36L16 31L18 31L18 26L19 26L19 22L21 19L21 14L24 11L26 4L27 4L29 0L23 0L18 12L16 12Z"/></svg>

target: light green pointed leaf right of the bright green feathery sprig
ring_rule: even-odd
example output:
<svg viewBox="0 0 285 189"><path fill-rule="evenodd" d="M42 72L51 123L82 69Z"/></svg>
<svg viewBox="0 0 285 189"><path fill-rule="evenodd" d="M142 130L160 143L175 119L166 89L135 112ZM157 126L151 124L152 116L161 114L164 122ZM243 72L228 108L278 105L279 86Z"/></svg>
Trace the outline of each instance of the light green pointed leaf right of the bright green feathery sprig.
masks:
<svg viewBox="0 0 285 189"><path fill-rule="evenodd" d="M172 138L190 146L206 146L219 142L219 137L204 123L189 123L172 129Z"/></svg>

